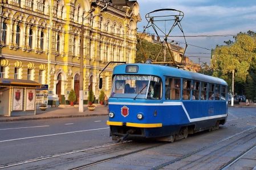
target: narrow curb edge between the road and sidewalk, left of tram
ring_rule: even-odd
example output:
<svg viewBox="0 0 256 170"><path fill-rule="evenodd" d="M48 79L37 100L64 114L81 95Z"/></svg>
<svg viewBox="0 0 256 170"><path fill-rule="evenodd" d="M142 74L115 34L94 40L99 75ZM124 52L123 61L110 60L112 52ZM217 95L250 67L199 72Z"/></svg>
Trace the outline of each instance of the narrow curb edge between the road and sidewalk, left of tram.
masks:
<svg viewBox="0 0 256 170"><path fill-rule="evenodd" d="M108 114L85 114L85 115L63 115L63 116L52 116L52 117L38 117L38 118L14 118L14 119L0 119L0 122L15 122L15 121L30 121L40 119L58 119L58 118L79 118L79 117L94 117Z"/></svg>

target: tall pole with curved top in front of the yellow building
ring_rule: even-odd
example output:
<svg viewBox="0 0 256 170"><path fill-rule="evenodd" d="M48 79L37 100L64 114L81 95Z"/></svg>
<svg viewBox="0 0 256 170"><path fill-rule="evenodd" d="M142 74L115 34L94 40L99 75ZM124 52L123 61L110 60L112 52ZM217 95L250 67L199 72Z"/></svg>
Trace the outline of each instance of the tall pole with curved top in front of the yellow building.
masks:
<svg viewBox="0 0 256 170"><path fill-rule="evenodd" d="M93 11L95 11L95 8L92 8L89 11L89 14L86 15L85 18L82 19L82 26L81 26L81 34L80 34L80 79L79 79L79 112L84 112L84 28L83 28L83 22L84 19L88 18L88 15L90 15Z"/></svg>

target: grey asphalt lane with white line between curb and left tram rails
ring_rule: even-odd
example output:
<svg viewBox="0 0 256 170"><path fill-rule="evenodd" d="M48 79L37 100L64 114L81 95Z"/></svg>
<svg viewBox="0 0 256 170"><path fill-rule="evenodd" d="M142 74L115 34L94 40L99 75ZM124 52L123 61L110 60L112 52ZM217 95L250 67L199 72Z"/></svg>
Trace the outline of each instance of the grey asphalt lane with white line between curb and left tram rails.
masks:
<svg viewBox="0 0 256 170"><path fill-rule="evenodd" d="M107 116L0 123L0 164L111 143Z"/></svg>

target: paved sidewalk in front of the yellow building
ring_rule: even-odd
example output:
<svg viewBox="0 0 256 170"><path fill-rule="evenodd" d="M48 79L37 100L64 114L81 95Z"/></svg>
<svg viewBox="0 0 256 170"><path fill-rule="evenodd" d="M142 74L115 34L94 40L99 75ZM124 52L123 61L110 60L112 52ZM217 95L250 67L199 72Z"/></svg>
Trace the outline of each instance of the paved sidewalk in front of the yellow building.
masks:
<svg viewBox="0 0 256 170"><path fill-rule="evenodd" d="M10 121L28 121L36 119L53 119L53 118L75 118L75 117L90 117L97 115L108 115L108 107L95 104L96 109L89 111L87 105L84 105L84 112L79 113L78 106L60 105L59 107L48 107L45 111L36 109L35 115L4 117L0 116L0 122Z"/></svg>

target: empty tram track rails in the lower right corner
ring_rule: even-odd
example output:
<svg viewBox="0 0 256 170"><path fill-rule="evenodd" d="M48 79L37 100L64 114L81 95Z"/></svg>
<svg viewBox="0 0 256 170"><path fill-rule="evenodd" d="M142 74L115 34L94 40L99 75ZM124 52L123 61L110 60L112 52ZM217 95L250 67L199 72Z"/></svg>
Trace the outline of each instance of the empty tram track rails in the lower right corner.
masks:
<svg viewBox="0 0 256 170"><path fill-rule="evenodd" d="M211 148L211 147L213 147L213 146L216 146L217 144L226 142L227 140L229 140L229 139L231 139L231 138L234 138L235 136L238 136L238 135L244 134L245 132L249 132L249 131L253 131L253 130L256 130L256 127L249 128L248 130L245 130L245 131L239 132L238 134L229 136L228 138L222 139L222 140L220 140L219 142L210 144L209 146L202 147L202 148L200 148L200 149L198 149L198 150L196 150L196 151L192 151L192 152L190 152L190 153L188 153L188 154L185 154L185 155L183 155L183 156L181 156L181 157L178 157L177 159L167 161L167 162L165 162L165 163L163 163L163 164L160 164L160 165L157 165L156 167L151 168L151 169L152 169L152 170L155 170L155 169L164 168L164 167L166 167L166 166L168 166L168 165L171 165L171 164L173 164L173 163L177 163L178 161L182 161L182 160L184 160L184 159L186 159L186 158L188 158L188 157L190 157L190 156L193 156L194 154L197 154L197 153L199 153L199 152L201 152L201 151L204 151L204 150L207 150L207 149L209 149L209 148ZM255 134L255 133L250 133L250 134L247 134L247 135L245 135L245 136L242 136L241 138L238 138L237 140L234 140L233 142L229 143L228 146L222 146L222 147L220 147L220 148L217 148L216 150L210 152L209 154L204 155L204 156L202 156L201 158L196 159L196 160L193 160L193 161L194 161L194 162L198 162L198 164L199 164L199 162L202 163L203 161L207 161L207 159L209 159L210 157L213 157L214 155L217 155L217 154L220 154L220 152L223 152L222 149L224 149L225 147L234 147L235 145L237 145L237 143L239 142L239 140L243 140L243 139L245 139L245 138L247 138L247 137L249 137L249 139L245 140L244 143L248 142L248 141L251 140L251 139L256 138L256 134ZM233 145L232 145L232 144L233 144ZM230 146L230 145L231 145L231 146ZM243 152L242 152L241 154L239 154L238 156L235 156L233 159L231 159L230 161L228 161L226 164L222 165L222 167L221 167L220 169L224 169L224 168L230 167L232 164L235 163L235 161L241 159L241 157L242 157L243 155L247 154L247 152L253 150L255 147L256 147L256 143L253 144L253 146L249 147L249 149L243 151ZM218 151L219 151L219 152L218 152ZM224 154L225 154L225 153L224 153ZM219 155L219 156L220 156L220 155ZM192 166L191 166L191 165L189 166L189 165L190 165L190 163L189 163L189 164L185 164L185 165L182 164L182 167L183 167L183 168L186 168L186 169L193 169L194 166L196 166L197 164L194 164L194 165L192 165ZM189 167L186 167L186 166L189 166Z"/></svg>

